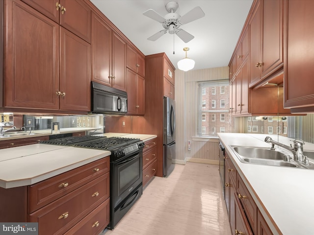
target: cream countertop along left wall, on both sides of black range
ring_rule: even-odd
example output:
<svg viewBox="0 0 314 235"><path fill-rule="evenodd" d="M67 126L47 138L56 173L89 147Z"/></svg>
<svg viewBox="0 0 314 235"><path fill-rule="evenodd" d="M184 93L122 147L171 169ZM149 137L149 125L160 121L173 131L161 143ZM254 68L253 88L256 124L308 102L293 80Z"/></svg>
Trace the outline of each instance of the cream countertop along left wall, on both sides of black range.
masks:
<svg viewBox="0 0 314 235"><path fill-rule="evenodd" d="M105 133L97 136L136 138L142 141L157 137L128 133ZM109 155L110 151L105 150L40 143L0 149L0 187L32 185Z"/></svg>

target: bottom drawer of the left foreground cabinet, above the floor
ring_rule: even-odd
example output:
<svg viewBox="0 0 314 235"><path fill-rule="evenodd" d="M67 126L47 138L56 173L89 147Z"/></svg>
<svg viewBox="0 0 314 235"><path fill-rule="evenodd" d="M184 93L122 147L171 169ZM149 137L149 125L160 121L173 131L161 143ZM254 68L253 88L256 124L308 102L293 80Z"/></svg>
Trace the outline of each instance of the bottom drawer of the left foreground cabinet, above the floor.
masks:
<svg viewBox="0 0 314 235"><path fill-rule="evenodd" d="M110 199L108 198L64 235L99 235L109 224Z"/></svg>

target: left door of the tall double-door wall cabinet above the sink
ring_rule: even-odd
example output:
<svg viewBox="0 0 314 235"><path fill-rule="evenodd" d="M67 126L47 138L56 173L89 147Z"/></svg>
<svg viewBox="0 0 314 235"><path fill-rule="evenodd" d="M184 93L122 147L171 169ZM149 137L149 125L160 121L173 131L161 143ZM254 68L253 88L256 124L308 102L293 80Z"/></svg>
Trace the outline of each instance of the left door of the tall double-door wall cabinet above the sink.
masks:
<svg viewBox="0 0 314 235"><path fill-rule="evenodd" d="M256 1L252 19L249 22L250 30L250 87L261 78L261 1Z"/></svg>

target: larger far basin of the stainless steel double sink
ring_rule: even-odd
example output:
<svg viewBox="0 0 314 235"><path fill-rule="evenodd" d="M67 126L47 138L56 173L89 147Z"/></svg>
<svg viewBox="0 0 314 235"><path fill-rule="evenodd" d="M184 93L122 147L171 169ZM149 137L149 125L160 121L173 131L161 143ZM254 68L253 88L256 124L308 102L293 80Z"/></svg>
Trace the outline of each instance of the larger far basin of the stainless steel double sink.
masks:
<svg viewBox="0 0 314 235"><path fill-rule="evenodd" d="M269 148L257 148L257 147L233 147L235 152L246 158L262 158L271 160L284 160L285 154Z"/></svg>

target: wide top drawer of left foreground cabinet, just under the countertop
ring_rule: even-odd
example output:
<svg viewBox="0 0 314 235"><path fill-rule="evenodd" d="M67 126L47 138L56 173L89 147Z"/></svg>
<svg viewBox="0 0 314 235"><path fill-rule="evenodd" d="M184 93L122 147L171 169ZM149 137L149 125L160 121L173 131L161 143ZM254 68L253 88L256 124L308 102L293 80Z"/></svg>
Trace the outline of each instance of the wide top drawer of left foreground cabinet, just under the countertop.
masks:
<svg viewBox="0 0 314 235"><path fill-rule="evenodd" d="M105 174L109 167L110 158L106 157L28 186L28 213Z"/></svg>

